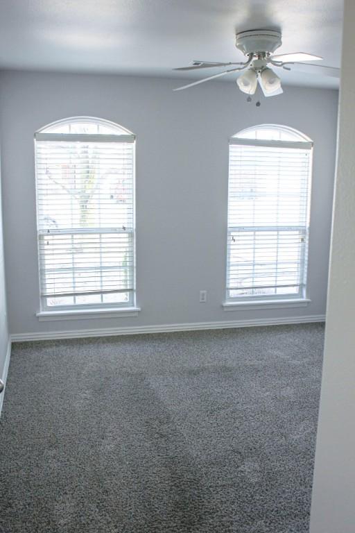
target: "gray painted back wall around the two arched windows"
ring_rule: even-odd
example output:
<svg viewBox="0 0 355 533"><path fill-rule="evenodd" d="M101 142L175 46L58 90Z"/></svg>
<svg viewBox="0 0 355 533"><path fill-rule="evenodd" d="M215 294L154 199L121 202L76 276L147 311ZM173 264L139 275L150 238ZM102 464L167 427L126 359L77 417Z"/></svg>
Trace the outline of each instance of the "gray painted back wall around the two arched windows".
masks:
<svg viewBox="0 0 355 533"><path fill-rule="evenodd" d="M176 80L1 73L5 251L12 333L324 314L338 92L286 87L246 102L234 83L172 92ZM110 119L137 135L139 316L39 322L33 135L75 115ZM286 124L315 142L306 308L223 311L228 138ZM207 289L207 303L199 290Z"/></svg>

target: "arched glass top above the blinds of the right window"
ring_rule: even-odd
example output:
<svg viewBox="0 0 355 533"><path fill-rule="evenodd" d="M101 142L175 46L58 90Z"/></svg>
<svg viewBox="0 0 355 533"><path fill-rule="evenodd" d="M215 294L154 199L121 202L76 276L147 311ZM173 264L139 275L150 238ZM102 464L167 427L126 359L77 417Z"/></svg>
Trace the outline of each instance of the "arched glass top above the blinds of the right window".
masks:
<svg viewBox="0 0 355 533"><path fill-rule="evenodd" d="M279 124L258 124L251 128L239 131L233 135L232 139L253 139L260 141L282 141L282 142L311 142L311 139L300 131L279 126Z"/></svg>

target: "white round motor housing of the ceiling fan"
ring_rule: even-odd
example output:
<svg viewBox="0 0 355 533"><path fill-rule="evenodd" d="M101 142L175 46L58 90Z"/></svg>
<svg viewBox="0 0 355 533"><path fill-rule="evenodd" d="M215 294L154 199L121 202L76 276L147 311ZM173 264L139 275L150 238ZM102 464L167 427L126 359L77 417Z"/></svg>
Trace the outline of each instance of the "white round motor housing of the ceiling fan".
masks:
<svg viewBox="0 0 355 533"><path fill-rule="evenodd" d="M282 45L281 33L273 30L242 31L236 34L236 48L245 56L250 53L274 53Z"/></svg>

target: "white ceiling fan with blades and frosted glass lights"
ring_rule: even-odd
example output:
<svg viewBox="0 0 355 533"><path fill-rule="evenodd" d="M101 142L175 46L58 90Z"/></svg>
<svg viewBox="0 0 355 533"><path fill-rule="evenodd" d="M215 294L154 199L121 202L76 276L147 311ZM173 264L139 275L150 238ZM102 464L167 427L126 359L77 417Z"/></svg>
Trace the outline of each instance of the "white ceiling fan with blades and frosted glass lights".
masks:
<svg viewBox="0 0 355 533"><path fill-rule="evenodd" d="M244 71L236 83L239 89L246 94L254 94L259 83L264 96L276 96L281 94L282 85L281 80L277 74L270 68L282 68L285 70L297 69L304 70L306 67L313 67L317 69L318 74L326 74L327 76L339 76L339 69L334 67L324 67L323 65L309 65L306 61L320 61L323 58L320 56L313 56L311 53L297 52L286 53L275 56L274 52L282 45L281 33L273 30L252 30L242 31L236 34L236 48L241 50L248 58L245 62L221 63L209 61L193 61L189 67L180 67L173 70L196 70L196 69L210 69L216 67L232 67L208 78L189 83L174 89L180 91L199 85L205 81L231 74L232 72Z"/></svg>

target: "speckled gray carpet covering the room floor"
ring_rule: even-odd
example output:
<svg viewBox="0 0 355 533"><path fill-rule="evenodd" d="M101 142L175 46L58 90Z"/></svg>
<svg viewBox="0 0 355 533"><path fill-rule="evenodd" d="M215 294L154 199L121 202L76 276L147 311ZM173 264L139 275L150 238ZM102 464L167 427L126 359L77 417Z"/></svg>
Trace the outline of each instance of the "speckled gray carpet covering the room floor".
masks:
<svg viewBox="0 0 355 533"><path fill-rule="evenodd" d="M306 533L321 324L14 344L1 533Z"/></svg>

